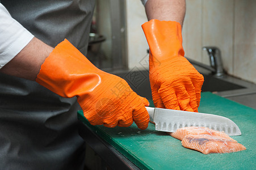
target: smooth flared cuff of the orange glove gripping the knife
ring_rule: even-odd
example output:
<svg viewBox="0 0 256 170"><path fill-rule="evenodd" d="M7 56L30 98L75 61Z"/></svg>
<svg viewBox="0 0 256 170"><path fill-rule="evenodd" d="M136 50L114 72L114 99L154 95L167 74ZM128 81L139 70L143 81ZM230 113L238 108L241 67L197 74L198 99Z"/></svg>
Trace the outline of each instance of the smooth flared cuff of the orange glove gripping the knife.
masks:
<svg viewBox="0 0 256 170"><path fill-rule="evenodd" d="M92 91L100 82L96 68L68 40L60 42L45 59L36 82L62 97ZM83 90L79 90L83 86Z"/></svg>

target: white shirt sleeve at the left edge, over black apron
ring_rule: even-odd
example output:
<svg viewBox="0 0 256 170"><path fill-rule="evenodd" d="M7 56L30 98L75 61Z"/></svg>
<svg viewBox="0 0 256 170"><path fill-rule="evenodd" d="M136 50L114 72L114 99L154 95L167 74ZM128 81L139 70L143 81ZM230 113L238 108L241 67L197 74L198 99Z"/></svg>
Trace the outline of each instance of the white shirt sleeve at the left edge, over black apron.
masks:
<svg viewBox="0 0 256 170"><path fill-rule="evenodd" d="M0 3L0 69L14 58L33 39Z"/></svg>

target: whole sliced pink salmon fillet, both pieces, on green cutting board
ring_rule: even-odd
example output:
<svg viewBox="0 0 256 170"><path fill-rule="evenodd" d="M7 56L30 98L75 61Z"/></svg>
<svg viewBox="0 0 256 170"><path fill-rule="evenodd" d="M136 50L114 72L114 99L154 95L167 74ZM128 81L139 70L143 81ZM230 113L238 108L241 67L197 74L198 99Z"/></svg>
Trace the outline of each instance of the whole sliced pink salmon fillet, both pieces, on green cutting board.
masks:
<svg viewBox="0 0 256 170"><path fill-rule="evenodd" d="M224 131L212 130L205 127L185 127L174 133L169 133L172 137L181 140L182 146L202 152L229 153L246 150L246 147L237 143Z"/></svg>

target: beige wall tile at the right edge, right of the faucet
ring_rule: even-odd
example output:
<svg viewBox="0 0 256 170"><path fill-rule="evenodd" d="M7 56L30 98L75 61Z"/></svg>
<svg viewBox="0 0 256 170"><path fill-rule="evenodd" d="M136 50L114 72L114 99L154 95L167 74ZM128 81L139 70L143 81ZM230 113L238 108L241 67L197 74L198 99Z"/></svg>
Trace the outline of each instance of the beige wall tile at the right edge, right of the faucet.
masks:
<svg viewBox="0 0 256 170"><path fill-rule="evenodd" d="M256 1L236 1L234 75L256 83Z"/></svg>

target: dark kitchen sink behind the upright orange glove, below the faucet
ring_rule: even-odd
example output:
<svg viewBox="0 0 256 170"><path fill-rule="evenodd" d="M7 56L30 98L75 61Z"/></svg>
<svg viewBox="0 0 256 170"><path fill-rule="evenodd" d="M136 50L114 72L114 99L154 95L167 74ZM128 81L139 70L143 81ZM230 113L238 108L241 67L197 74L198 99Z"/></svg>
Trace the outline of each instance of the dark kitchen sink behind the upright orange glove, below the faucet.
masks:
<svg viewBox="0 0 256 170"><path fill-rule="evenodd" d="M204 76L202 92L209 91L223 97L246 95L256 92L256 85L253 83L246 82L229 75L216 77L207 70L202 71L199 68L196 69ZM129 86L131 86L132 90L138 95L146 97L148 100L152 100L148 70L132 69L111 71L110 73L125 79Z"/></svg>

